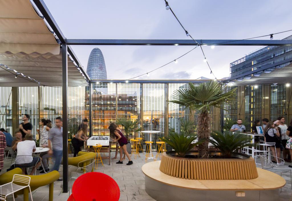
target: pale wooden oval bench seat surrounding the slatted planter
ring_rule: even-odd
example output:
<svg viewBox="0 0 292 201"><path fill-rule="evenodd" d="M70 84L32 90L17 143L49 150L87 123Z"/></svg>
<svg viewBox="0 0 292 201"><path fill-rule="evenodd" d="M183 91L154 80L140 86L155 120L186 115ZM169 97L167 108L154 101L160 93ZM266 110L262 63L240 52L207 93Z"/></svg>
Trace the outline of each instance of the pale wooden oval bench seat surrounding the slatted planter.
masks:
<svg viewBox="0 0 292 201"><path fill-rule="evenodd" d="M272 190L285 186L284 178L273 172L257 168L258 178L250 180L189 180L166 175L159 170L160 161L148 162L142 172L161 183L195 190Z"/></svg>

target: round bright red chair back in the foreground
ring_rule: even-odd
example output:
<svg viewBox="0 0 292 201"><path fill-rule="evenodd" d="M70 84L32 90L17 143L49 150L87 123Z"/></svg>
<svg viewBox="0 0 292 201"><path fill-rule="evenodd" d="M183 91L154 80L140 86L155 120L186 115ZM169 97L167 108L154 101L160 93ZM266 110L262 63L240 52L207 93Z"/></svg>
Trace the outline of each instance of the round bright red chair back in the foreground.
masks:
<svg viewBox="0 0 292 201"><path fill-rule="evenodd" d="M88 172L76 179L72 186L76 201L118 201L120 189L116 181L101 172Z"/></svg>

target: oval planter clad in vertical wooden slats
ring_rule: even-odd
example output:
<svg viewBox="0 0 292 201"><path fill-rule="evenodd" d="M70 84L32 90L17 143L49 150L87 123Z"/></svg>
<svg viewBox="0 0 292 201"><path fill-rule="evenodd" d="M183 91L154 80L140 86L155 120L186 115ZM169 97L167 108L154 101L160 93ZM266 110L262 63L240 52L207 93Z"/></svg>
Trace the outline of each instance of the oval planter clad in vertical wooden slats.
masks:
<svg viewBox="0 0 292 201"><path fill-rule="evenodd" d="M187 155L197 155L198 151L190 151ZM256 164L248 155L234 152L237 158L226 159L191 159L175 157L175 151L167 151L162 155L159 170L164 174L193 180L246 180L256 179ZM220 151L212 151L210 155L221 155Z"/></svg>

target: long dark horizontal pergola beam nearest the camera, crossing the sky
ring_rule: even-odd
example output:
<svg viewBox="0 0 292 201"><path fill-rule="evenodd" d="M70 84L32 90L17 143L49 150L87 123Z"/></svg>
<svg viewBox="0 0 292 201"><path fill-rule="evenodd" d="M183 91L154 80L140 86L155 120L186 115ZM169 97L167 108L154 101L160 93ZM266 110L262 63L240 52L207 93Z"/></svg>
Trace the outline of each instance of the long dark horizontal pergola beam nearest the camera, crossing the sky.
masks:
<svg viewBox="0 0 292 201"><path fill-rule="evenodd" d="M34 0L36 1L36 0ZM196 40L202 46L291 46L292 40ZM62 41L60 41L62 42ZM194 46L193 40L152 40L152 39L65 39L68 45L154 45Z"/></svg>

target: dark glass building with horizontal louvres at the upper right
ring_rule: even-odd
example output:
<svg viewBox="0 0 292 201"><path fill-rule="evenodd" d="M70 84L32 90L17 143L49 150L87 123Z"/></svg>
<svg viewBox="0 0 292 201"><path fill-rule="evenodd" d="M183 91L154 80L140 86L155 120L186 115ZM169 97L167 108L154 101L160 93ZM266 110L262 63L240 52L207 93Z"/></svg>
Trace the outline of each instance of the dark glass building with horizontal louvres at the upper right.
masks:
<svg viewBox="0 0 292 201"><path fill-rule="evenodd" d="M292 35L283 40L291 39ZM267 46L230 63L230 77L238 76L248 71L254 71L283 60L287 60L287 63L275 66L275 68L283 68L290 64L292 61L292 46ZM267 69L264 72L270 71L271 69Z"/></svg>

